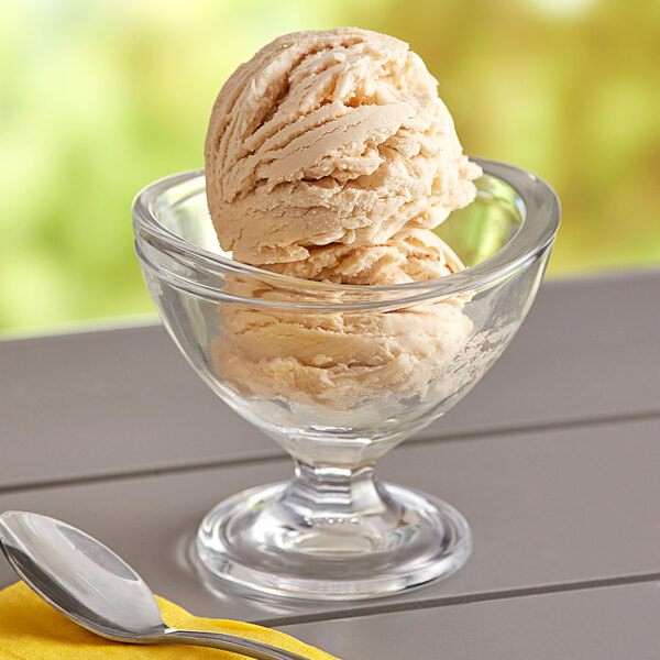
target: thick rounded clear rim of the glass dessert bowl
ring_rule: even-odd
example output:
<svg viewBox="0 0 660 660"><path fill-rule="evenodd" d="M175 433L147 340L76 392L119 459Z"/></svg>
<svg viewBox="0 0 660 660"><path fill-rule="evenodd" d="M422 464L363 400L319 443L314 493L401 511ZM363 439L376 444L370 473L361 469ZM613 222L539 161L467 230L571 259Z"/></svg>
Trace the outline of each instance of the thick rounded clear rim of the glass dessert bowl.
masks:
<svg viewBox="0 0 660 660"><path fill-rule="evenodd" d="M237 300L280 306L272 300L246 299L222 290L228 273L257 279L267 283L271 287L282 287L289 293L299 289L305 298L309 295L319 298L318 304L315 304L312 298L311 304L306 299L305 305L287 305L296 308L362 308L365 302L373 302L376 299L381 304L387 300L388 304L400 305L473 293L509 277L540 258L552 246L560 224L561 207L551 186L537 175L498 161L481 157L470 157L470 160L480 165L484 174L513 188L521 201L519 211L522 222L512 239L495 254L474 266L443 277L396 285L329 284L263 271L257 266L237 262L200 248L165 228L158 221L154 206L164 194L176 186L196 178L205 182L204 169L190 169L163 177L138 193L131 208L135 252L141 265L153 271L158 278L167 280L177 288L218 301ZM205 185L201 190L205 190ZM199 191L200 189L196 189L188 197ZM168 260L183 265L186 273L189 274L190 270L199 271L205 277L190 278L183 275L180 268L164 267L163 263L156 263L154 260L154 250L156 255L164 253ZM218 286L209 284L213 276L219 276ZM328 296L331 300L337 300L338 296L343 297L345 302L329 305Z"/></svg>

